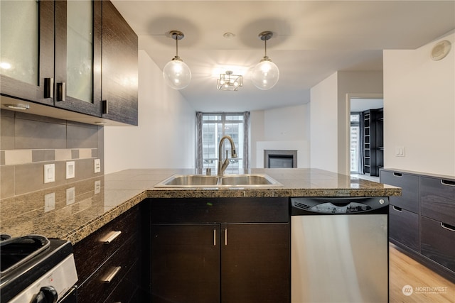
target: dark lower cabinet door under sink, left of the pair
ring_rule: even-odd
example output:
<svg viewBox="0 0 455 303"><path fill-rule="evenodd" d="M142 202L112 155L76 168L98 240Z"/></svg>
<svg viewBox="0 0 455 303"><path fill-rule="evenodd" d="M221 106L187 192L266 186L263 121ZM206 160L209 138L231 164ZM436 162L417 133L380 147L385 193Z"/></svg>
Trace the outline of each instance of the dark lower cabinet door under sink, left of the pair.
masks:
<svg viewBox="0 0 455 303"><path fill-rule="evenodd" d="M152 302L220 302L219 232L219 224L152 224Z"/></svg>

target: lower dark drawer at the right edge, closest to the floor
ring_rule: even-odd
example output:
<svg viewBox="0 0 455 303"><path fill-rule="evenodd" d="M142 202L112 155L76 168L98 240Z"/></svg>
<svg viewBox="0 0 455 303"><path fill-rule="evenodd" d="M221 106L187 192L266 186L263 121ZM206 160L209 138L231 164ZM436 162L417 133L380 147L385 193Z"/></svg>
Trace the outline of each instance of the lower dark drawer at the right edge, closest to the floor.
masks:
<svg viewBox="0 0 455 303"><path fill-rule="evenodd" d="M422 255L455 272L455 226L422 216Z"/></svg>

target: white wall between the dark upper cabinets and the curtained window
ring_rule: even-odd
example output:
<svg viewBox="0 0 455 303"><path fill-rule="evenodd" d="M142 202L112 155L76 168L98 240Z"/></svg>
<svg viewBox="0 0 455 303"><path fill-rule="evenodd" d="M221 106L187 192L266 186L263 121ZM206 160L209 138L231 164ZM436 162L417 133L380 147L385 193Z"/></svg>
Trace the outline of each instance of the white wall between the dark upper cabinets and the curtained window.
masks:
<svg viewBox="0 0 455 303"><path fill-rule="evenodd" d="M193 168L196 111L166 86L139 50L139 126L105 127L105 173L128 168Z"/></svg>

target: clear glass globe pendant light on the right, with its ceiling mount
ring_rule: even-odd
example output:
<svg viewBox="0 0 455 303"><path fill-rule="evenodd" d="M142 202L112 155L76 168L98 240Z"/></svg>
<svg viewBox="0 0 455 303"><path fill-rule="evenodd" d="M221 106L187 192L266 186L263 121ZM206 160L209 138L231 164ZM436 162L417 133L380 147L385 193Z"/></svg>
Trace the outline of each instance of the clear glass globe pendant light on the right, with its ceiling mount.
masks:
<svg viewBox="0 0 455 303"><path fill-rule="evenodd" d="M252 70L252 82L255 87L262 90L271 89L277 84L279 79L279 70L276 64L267 56L267 40L272 38L271 31L259 33L259 39L265 43L265 55Z"/></svg>

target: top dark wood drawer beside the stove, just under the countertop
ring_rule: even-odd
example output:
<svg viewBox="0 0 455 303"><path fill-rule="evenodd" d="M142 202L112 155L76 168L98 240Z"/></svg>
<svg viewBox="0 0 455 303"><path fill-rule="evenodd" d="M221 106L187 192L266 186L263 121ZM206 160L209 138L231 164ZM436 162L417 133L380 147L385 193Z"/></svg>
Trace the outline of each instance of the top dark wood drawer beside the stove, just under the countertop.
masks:
<svg viewBox="0 0 455 303"><path fill-rule="evenodd" d="M130 209L119 218L102 226L98 231L75 244L74 255L79 284L82 284L87 277L90 277L92 272L99 268L132 235L137 236L139 228L138 212L136 208ZM102 242L113 231L121 231L122 233L110 243Z"/></svg>

